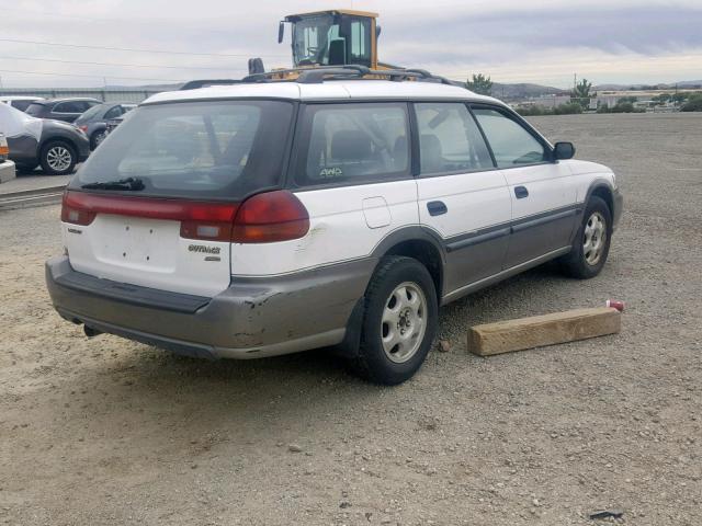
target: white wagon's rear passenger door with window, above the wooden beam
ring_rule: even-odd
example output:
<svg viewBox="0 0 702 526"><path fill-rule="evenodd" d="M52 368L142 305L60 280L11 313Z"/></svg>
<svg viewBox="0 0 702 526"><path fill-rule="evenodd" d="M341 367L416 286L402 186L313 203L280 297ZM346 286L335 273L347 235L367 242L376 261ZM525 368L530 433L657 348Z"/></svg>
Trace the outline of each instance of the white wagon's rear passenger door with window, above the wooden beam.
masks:
<svg viewBox="0 0 702 526"><path fill-rule="evenodd" d="M466 104L414 104L419 217L446 250L444 295L502 270L511 203Z"/></svg>

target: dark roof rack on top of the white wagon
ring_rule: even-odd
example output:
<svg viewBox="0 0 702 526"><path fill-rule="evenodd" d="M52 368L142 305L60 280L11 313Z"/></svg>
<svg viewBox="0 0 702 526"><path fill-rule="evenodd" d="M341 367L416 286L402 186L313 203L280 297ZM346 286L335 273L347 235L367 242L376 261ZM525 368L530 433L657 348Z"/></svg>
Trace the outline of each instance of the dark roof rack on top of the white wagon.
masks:
<svg viewBox="0 0 702 526"><path fill-rule="evenodd" d="M280 76L286 76L288 73L298 73L296 78L275 78ZM252 73L244 77L241 80L191 80L181 87L181 90L194 90L206 85L215 84L239 84L239 83L257 83L257 82L298 82L302 84L319 84L325 80L340 80L340 79L364 79L367 76L374 76L380 78L386 78L395 82L401 82L404 80L414 79L426 82L440 82L448 85L463 87L460 82L454 82L440 77L431 75L426 69L371 69L366 66L359 65L346 65L346 66L321 66L317 68L291 68L291 69L276 69L273 71L264 71L262 73Z"/></svg>

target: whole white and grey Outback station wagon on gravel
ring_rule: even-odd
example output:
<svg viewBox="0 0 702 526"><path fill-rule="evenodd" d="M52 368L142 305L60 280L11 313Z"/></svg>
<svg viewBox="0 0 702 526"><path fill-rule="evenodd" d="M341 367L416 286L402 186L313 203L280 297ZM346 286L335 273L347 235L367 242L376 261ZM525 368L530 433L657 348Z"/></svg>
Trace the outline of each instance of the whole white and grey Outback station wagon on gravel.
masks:
<svg viewBox="0 0 702 526"><path fill-rule="evenodd" d="M207 358L331 347L398 384L441 305L556 258L601 271L622 210L609 168L426 72L360 77L144 102L64 195L60 316Z"/></svg>

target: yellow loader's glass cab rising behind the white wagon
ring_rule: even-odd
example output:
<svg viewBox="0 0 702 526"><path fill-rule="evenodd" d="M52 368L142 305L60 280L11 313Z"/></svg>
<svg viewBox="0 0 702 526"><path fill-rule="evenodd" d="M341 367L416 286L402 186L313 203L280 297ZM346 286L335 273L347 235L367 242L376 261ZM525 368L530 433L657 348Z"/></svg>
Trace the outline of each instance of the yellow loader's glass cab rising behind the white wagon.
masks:
<svg viewBox="0 0 702 526"><path fill-rule="evenodd" d="M377 68L376 13L319 11L285 16L279 28L283 42L285 24L292 26L293 67L355 64Z"/></svg>

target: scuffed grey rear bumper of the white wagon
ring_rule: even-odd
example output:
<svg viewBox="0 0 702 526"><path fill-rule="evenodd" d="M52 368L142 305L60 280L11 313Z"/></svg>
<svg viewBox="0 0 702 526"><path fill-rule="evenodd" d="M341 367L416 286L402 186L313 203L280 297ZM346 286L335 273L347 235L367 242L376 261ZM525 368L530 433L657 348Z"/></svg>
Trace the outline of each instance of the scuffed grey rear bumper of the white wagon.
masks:
<svg viewBox="0 0 702 526"><path fill-rule="evenodd" d="M205 298L100 279L57 256L46 262L46 284L58 313L75 323L179 354L256 358L341 343L375 263L234 278Z"/></svg>

